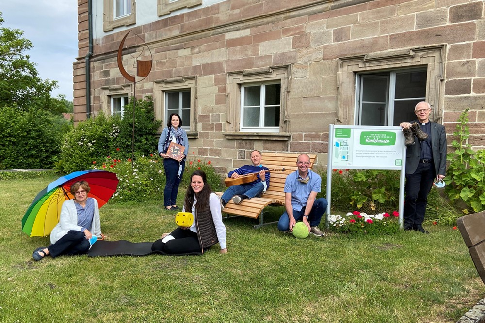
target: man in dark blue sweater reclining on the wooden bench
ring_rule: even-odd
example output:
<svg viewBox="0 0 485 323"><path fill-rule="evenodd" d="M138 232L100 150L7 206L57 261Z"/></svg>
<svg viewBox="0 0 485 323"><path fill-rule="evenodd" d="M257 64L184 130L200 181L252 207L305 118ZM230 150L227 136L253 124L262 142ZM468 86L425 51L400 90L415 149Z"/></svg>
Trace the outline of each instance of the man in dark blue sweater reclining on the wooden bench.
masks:
<svg viewBox="0 0 485 323"><path fill-rule="evenodd" d="M244 199L251 199L266 192L270 186L270 173L266 173L269 170L267 167L261 165L261 152L259 150L253 150L251 152L251 162L253 165L244 165L238 169L232 170L227 174L229 178L239 178L243 175L249 175L257 173L256 180L250 183L241 185L233 185L226 189L221 196L222 204L225 206L229 200L236 204L241 204Z"/></svg>

